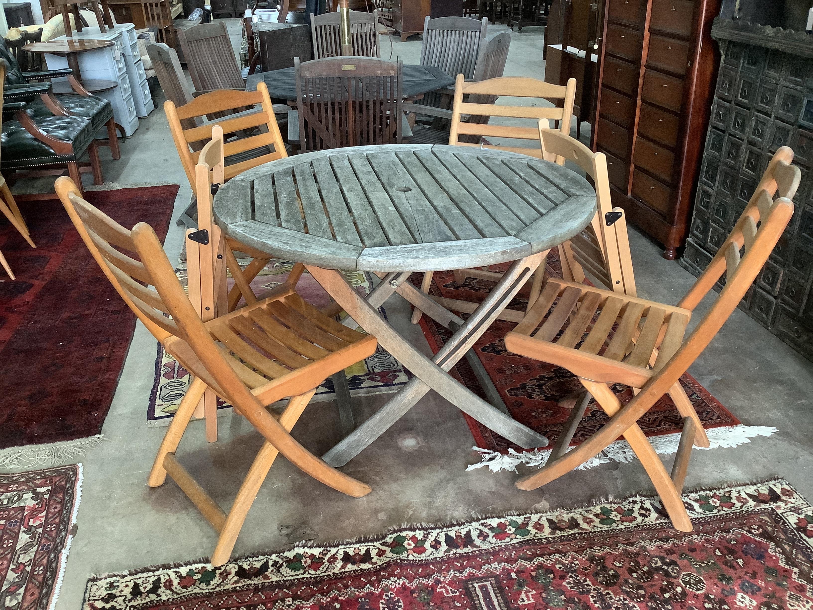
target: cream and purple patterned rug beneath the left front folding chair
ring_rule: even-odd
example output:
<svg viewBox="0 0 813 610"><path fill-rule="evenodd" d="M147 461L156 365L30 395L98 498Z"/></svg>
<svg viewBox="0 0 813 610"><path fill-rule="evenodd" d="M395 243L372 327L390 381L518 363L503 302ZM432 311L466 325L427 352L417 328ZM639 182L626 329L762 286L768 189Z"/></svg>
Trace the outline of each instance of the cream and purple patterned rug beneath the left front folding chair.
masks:
<svg viewBox="0 0 813 610"><path fill-rule="evenodd" d="M250 259L239 259L242 264L249 264ZM255 294L262 295L263 292L271 290L276 285L280 285L288 278L288 274L293 267L292 263L272 259L263 268L259 275L251 282L251 288ZM186 256L181 253L180 263L176 269L180 282L186 287ZM371 290L370 277L364 272L346 271L345 277L350 285L363 294L369 294ZM228 287L231 289L232 279L228 279ZM313 277L307 272L302 274L297 291L308 303L315 307L324 307L330 303L328 293L324 291ZM386 312L382 308L382 313ZM394 359L380 347L376 353L366 360L354 364L345 369L347 383L350 386L351 396L363 396L370 394L389 394L401 389L409 377L398 360ZM191 379L185 368L178 364L178 361L163 351L163 347L158 344L158 357L155 359L155 381L150 393L150 403L147 406L147 425L162 426L169 425L172 416L178 409L180 401L183 400L186 390L189 388ZM311 402L328 401L336 398L333 390L333 381L328 379L316 390ZM218 399L218 414L220 416L230 415L232 407L223 400Z"/></svg>

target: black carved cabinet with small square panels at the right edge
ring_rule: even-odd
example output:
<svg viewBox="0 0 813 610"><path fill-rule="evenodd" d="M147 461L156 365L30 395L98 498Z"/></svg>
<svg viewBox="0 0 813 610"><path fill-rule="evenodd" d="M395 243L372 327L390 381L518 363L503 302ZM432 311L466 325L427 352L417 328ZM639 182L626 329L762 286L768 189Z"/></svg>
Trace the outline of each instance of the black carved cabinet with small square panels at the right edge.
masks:
<svg viewBox="0 0 813 610"><path fill-rule="evenodd" d="M813 359L813 36L744 21L721 16L712 29L722 59L681 264L706 267L773 153L791 146L796 211L741 308Z"/></svg>

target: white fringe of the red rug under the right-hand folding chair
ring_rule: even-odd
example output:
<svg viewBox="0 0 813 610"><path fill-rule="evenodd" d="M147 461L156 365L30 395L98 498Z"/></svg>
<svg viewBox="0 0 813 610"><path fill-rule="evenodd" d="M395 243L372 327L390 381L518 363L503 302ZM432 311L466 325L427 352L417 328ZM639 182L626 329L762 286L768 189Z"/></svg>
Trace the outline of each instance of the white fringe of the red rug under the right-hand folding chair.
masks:
<svg viewBox="0 0 813 610"><path fill-rule="evenodd" d="M732 425L724 426L721 428L711 428L706 430L706 435L709 438L709 447L694 447L695 449L717 449L718 447L737 447L746 442L751 442L750 439L756 436L771 436L776 433L776 428L764 425ZM656 453L660 455L670 455L677 451L677 446L680 443L680 433L663 434L661 436L648 437L652 443L652 447ZM541 468L548 461L550 449L537 449L534 451L515 451L508 450L508 454L502 454L498 451L491 451L490 449L482 449L481 447L472 447L474 451L480 454L480 461L478 464L469 465L466 470L474 470L475 468L483 468L487 466L492 473L498 473L502 470L510 470L516 472L516 467L520 464L525 466L536 466ZM633 448L629 443L621 440L615 441L610 446L606 447L601 453L595 457L590 458L584 464L581 464L576 469L586 470L588 468L595 468L598 464L608 464L609 462L632 462L637 460Z"/></svg>

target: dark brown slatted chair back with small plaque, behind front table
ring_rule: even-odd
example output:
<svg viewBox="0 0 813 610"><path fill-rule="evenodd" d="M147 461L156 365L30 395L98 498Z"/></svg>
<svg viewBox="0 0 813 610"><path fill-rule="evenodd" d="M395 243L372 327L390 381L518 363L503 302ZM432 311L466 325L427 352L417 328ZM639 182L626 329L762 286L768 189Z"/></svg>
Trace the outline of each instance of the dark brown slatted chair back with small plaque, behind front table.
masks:
<svg viewBox="0 0 813 610"><path fill-rule="evenodd" d="M400 59L295 58L294 70L301 152L401 143Z"/></svg>

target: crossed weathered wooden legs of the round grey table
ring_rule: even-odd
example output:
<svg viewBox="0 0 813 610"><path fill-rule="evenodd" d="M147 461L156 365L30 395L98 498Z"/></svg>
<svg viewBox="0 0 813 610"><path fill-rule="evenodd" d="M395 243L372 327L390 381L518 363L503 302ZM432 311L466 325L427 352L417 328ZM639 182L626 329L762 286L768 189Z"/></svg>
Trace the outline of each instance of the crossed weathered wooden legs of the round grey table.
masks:
<svg viewBox="0 0 813 610"><path fill-rule="evenodd" d="M474 345L477 339L492 325L498 315L511 303L540 264L544 264L547 251L515 261L493 288L480 307L467 320L455 316L432 298L417 290L406 281L412 272L393 272L385 275L376 289L365 299L347 283L340 272L306 265L316 281L328 291L333 299L367 333L375 335L380 346L409 368L415 375L375 414L354 429L341 442L322 456L331 466L343 466L359 455L376 438L389 429L411 409L429 390L435 390L461 411L480 421L494 432L501 434L520 447L546 447L547 438L499 411L485 400L461 385L448 371ZM419 271L423 271L420 269ZM418 351L402 338L380 316L378 308L393 295L400 294L407 301L420 307L426 315L441 325L455 329L454 335L441 347L433 359Z"/></svg>

